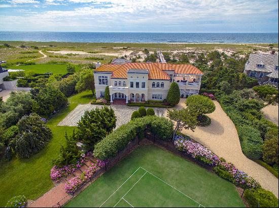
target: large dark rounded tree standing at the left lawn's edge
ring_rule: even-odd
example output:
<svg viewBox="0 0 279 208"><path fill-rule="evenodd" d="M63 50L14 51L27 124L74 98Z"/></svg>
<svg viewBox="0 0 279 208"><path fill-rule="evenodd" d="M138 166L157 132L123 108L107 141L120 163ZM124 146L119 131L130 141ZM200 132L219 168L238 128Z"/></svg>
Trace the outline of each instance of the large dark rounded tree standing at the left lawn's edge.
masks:
<svg viewBox="0 0 279 208"><path fill-rule="evenodd" d="M19 133L10 145L19 158L30 158L32 154L43 149L52 137L51 129L35 113L23 116L17 127Z"/></svg>

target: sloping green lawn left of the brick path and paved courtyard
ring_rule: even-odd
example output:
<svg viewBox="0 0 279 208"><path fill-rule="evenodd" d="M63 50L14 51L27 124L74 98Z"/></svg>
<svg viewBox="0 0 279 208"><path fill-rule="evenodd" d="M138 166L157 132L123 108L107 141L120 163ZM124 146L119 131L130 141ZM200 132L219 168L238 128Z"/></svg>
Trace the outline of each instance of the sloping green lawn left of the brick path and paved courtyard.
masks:
<svg viewBox="0 0 279 208"><path fill-rule="evenodd" d="M71 134L74 127L56 126L79 103L88 103L92 98L91 91L85 91L69 97L69 106L50 119L47 125L51 128L53 138L49 144L30 159L13 159L0 163L0 207L16 195L25 195L36 199L53 187L50 179L50 161L57 156L60 144L64 144L64 134Z"/></svg>

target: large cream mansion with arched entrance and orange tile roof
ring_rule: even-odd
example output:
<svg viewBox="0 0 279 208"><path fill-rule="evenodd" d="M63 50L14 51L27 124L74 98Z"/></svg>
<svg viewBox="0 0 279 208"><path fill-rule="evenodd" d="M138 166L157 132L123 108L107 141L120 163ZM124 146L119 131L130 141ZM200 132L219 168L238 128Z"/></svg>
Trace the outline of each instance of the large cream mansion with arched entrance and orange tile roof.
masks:
<svg viewBox="0 0 279 208"><path fill-rule="evenodd" d="M183 96L198 94L201 76L190 64L104 64L94 71L96 97L103 97L109 86L111 102L120 98L126 103L166 99L171 82L178 83Z"/></svg>

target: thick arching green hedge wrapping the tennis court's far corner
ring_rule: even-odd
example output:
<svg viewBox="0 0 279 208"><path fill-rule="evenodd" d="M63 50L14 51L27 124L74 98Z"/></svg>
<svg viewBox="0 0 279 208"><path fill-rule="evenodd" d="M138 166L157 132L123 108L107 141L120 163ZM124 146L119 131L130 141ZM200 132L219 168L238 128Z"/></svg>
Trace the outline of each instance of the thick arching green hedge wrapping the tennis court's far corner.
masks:
<svg viewBox="0 0 279 208"><path fill-rule="evenodd" d="M135 139L137 132L143 132L145 129L162 140L168 140L172 136L173 123L166 118L157 116L134 119L97 143L93 152L94 157L99 160L115 157L118 151L124 149L131 140Z"/></svg>

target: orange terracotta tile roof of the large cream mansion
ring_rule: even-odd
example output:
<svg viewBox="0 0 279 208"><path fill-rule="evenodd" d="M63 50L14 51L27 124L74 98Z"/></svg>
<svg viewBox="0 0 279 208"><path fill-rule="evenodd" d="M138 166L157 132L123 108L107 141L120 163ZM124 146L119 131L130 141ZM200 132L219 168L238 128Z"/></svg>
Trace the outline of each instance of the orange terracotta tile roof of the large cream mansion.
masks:
<svg viewBox="0 0 279 208"><path fill-rule="evenodd" d="M164 71L175 71L176 74L202 74L202 72L190 64L161 64L161 63L125 63L123 65L102 65L95 72L113 72L111 78L127 79L127 72L143 72L148 70L148 79L169 80L170 77Z"/></svg>

